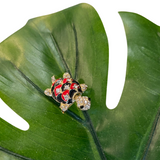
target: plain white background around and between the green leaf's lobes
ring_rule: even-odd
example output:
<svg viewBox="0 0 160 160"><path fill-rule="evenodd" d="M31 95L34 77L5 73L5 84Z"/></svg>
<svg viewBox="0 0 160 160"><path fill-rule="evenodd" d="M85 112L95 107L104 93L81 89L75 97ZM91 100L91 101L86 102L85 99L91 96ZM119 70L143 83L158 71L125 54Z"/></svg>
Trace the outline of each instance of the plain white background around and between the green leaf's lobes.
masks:
<svg viewBox="0 0 160 160"><path fill-rule="evenodd" d="M109 41L109 77L107 87L107 107L117 106L125 80L127 43L119 11L138 13L160 25L158 0L5 0L0 2L0 42L22 28L34 17L61 11L79 3L89 3L101 17ZM107 82L106 82L107 84ZM0 99L0 117L12 125L27 130L29 124L15 114Z"/></svg>

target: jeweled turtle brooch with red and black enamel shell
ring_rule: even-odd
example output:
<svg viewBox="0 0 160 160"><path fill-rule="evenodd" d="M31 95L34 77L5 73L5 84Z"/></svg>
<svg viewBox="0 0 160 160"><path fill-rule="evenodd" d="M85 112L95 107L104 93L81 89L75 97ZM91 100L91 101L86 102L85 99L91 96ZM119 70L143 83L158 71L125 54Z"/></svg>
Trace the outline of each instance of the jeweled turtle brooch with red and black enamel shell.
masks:
<svg viewBox="0 0 160 160"><path fill-rule="evenodd" d="M82 93L87 89L86 84L79 84L72 79L69 73L64 73L63 78L51 78L52 86L44 91L44 94L52 97L55 101L60 103L62 113L76 101L77 107L85 111L90 109L91 101L87 96L82 96Z"/></svg>

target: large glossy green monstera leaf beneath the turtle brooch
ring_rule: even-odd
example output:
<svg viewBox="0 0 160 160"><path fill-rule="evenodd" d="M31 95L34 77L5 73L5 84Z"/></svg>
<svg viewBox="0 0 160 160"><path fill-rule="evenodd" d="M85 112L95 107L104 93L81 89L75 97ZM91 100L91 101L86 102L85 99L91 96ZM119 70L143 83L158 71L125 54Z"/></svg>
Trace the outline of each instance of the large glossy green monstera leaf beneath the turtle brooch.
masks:
<svg viewBox="0 0 160 160"><path fill-rule="evenodd" d="M159 159L160 28L133 13L120 15L128 62L114 110L105 105L107 37L90 5L29 20L0 44L0 97L30 125L21 131L0 119L1 159ZM73 105L62 114L44 95L51 76L64 72L88 85L89 111Z"/></svg>

